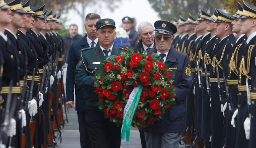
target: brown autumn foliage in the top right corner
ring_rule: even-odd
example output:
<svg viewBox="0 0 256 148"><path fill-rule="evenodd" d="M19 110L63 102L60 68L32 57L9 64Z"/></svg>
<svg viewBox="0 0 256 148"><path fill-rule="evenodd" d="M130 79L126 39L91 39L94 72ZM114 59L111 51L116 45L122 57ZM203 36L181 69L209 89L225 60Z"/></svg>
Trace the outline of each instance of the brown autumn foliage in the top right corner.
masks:
<svg viewBox="0 0 256 148"><path fill-rule="evenodd" d="M245 0L251 5L256 5L256 0ZM223 0L224 9L227 10L229 14L234 15L237 12L238 2L243 5L243 0Z"/></svg>

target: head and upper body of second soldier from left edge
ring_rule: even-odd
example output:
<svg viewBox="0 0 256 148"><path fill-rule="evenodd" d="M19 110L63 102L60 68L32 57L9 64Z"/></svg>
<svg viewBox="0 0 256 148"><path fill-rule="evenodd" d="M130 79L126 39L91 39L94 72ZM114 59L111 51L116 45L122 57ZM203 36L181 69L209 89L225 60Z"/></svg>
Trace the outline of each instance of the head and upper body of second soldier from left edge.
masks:
<svg viewBox="0 0 256 148"><path fill-rule="evenodd" d="M24 48L24 45L22 45L22 43L17 39L16 33L18 28L24 28L24 19L26 18L24 14L28 12L23 9L21 0L11 0L7 2L7 5L11 7L9 9L12 11L12 21L6 25L5 35L8 37L8 39L10 39L11 44L13 45L12 48L14 48L19 57L19 81L20 86L23 86L24 76L26 76L27 72L28 58L26 49Z"/></svg>

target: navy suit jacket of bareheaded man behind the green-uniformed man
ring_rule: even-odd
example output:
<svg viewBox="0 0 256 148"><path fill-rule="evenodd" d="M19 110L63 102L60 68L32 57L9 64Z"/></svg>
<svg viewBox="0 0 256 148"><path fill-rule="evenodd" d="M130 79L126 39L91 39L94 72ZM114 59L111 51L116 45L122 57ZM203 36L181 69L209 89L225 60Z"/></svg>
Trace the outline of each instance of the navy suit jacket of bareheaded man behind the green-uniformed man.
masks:
<svg viewBox="0 0 256 148"><path fill-rule="evenodd" d="M86 37L87 35L71 45L69 50L69 62L66 70L66 101L74 101L74 88L76 87L76 111L84 111L86 102L83 98L83 88L79 87L77 84L75 86L75 70L81 57L80 50L90 47Z"/></svg>

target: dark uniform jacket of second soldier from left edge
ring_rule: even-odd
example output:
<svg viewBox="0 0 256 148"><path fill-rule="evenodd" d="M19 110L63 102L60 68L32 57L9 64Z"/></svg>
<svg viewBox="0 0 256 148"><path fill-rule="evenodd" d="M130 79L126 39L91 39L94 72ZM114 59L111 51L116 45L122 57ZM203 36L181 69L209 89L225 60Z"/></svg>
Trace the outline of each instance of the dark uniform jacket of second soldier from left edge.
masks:
<svg viewBox="0 0 256 148"><path fill-rule="evenodd" d="M14 51L18 55L18 58L19 58L19 67L18 67L19 80L23 80L24 76L26 75L27 62L28 62L26 50L25 50L24 46L22 45L22 43L18 39L16 39L11 32L5 30L5 35L8 37L8 39L10 39L10 42L12 43L12 47L14 48Z"/></svg>

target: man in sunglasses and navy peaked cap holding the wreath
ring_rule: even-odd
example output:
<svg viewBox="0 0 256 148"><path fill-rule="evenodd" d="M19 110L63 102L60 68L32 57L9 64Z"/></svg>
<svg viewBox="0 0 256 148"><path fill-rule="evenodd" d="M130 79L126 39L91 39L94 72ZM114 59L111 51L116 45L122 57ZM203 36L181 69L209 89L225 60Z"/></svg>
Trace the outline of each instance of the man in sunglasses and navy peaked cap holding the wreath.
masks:
<svg viewBox="0 0 256 148"><path fill-rule="evenodd" d="M171 45L173 34L177 32L175 25L168 21L156 21L156 46L147 55L157 53L164 60L171 74L175 74L176 104L168 109L164 119L143 129L147 148L178 148L180 132L184 132L185 104L187 93L191 88L192 76L190 60L184 53L175 50Z"/></svg>

